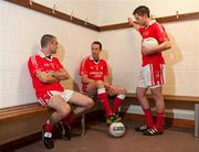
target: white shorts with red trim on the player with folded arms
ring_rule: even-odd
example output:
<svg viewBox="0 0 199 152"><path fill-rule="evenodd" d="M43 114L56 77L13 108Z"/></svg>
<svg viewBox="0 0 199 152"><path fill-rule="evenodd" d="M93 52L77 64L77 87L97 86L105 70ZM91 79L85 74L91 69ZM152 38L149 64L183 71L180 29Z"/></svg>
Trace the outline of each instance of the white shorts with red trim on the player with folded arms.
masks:
<svg viewBox="0 0 199 152"><path fill-rule="evenodd" d="M39 98L39 102L42 106L46 106L46 102L51 99L52 96L61 96L65 101L69 101L73 95L73 90L70 89L64 89L63 91L57 91L57 90L50 90L50 91L45 91L43 94L41 94L40 96L38 96Z"/></svg>

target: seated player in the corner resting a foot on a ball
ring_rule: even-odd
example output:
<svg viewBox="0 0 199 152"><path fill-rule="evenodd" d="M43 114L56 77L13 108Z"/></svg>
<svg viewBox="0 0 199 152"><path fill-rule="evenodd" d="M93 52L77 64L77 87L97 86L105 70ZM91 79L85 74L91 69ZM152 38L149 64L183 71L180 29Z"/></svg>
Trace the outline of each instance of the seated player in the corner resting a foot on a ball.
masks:
<svg viewBox="0 0 199 152"><path fill-rule="evenodd" d="M101 42L93 42L91 48L91 56L84 58L80 67L80 75L83 84L82 89L90 96L97 95L106 111L106 123L111 124L114 121L121 120L118 108L124 102L126 89L109 83L106 61L100 57L102 51ZM109 106L107 95L116 95L113 108Z"/></svg>

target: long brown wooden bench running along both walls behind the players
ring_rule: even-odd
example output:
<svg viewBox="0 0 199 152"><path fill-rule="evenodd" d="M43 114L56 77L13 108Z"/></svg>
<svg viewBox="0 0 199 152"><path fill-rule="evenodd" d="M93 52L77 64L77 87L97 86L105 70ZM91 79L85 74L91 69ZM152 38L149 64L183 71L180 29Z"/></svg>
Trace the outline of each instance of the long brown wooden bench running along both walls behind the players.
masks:
<svg viewBox="0 0 199 152"><path fill-rule="evenodd" d="M127 99L137 100L135 94L127 94ZM148 96L149 99L151 99L150 96ZM171 96L171 95L164 95L165 101L172 101L172 102L189 102L195 105L195 137L199 137L199 97L190 97L190 96ZM101 104L97 102L93 110L100 110L102 109ZM92 110L92 111L93 111ZM30 104L25 106L17 106L11 108L4 108L0 109L0 123L8 121L17 121L18 119L22 119L25 117L36 116L40 113L43 115L51 115L53 110L49 108L44 108L40 106L39 104ZM88 113L90 115L90 113ZM82 128L82 135L85 134L85 115L81 118L81 128Z"/></svg>

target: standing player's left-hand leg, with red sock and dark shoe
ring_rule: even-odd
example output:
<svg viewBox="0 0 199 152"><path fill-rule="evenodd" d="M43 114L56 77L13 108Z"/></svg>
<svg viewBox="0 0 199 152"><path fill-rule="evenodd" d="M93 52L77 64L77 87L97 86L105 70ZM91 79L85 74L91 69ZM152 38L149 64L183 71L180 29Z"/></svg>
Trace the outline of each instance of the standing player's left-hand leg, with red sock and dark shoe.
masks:
<svg viewBox="0 0 199 152"><path fill-rule="evenodd" d="M146 91L147 91L147 88L144 88L144 87L137 87L136 89L136 96L142 105L145 119L146 119L146 127L143 126L143 127L136 128L137 131L145 131L148 128L154 127L154 119L153 119L151 110L149 107L149 102L146 97Z"/></svg>

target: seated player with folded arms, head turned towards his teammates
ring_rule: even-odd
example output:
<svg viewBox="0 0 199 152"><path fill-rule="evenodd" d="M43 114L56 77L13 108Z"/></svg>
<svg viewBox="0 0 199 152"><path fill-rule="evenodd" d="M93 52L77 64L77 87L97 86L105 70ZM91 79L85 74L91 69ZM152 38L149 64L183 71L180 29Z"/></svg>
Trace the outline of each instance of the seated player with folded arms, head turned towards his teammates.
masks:
<svg viewBox="0 0 199 152"><path fill-rule="evenodd" d="M65 137L70 137L70 124L74 122L77 116L91 109L94 101L80 93L64 89L60 82L70 76L56 57L56 37L45 34L41 39L42 50L29 58L29 70L32 77L35 95L42 106L54 109L55 111L43 126L42 140L48 149L54 146L52 140L53 127L62 123L65 129ZM72 111L69 104L77 107Z"/></svg>

